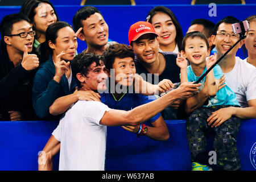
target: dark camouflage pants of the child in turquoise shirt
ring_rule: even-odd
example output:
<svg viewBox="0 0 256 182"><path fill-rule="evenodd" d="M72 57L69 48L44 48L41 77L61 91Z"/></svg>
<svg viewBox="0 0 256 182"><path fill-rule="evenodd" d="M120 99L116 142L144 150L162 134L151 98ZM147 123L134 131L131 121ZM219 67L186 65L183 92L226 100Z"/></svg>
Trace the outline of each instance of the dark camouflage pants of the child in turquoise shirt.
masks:
<svg viewBox="0 0 256 182"><path fill-rule="evenodd" d="M208 126L207 122L212 112L228 106L230 105L200 107L189 115L186 126L188 148L191 152L192 162L209 165L205 134L213 131L215 134L213 147L217 154L218 168L224 170L241 169L236 147L236 135L240 127L241 119L232 117L220 126L213 128Z"/></svg>

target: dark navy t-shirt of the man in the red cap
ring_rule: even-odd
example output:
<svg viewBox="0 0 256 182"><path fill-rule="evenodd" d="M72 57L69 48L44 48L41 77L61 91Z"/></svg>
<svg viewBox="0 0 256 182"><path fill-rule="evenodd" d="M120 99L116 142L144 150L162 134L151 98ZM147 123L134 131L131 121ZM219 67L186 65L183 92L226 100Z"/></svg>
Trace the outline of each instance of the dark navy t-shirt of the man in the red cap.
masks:
<svg viewBox="0 0 256 182"><path fill-rule="evenodd" d="M162 53L164 58L166 59L166 68L164 69L163 73L159 76L150 76L148 77L148 71L142 66L140 63L138 57L135 57L134 63L136 67L136 73L141 75L143 79L145 80L146 75L146 81L150 82L151 84L157 85L158 81L162 81L163 79L171 80L173 83L180 82L180 67L176 64L176 57L177 54L174 52L159 52ZM158 79L158 81L157 81Z"/></svg>

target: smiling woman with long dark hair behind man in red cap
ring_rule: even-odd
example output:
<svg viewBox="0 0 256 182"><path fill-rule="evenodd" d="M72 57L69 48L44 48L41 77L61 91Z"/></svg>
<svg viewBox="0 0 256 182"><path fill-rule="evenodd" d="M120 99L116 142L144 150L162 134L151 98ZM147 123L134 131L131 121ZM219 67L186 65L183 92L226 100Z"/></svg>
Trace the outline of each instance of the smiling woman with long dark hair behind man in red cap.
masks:
<svg viewBox="0 0 256 182"><path fill-rule="evenodd" d="M180 23L170 9L164 6L156 6L147 15L150 22L159 35L160 51L179 52L183 33Z"/></svg>

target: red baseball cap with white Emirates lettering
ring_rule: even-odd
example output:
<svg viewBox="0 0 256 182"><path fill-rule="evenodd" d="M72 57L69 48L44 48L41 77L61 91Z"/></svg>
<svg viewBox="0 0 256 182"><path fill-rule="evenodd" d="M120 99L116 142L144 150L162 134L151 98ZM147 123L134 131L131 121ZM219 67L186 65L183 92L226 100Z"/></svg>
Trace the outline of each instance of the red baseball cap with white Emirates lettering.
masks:
<svg viewBox="0 0 256 182"><path fill-rule="evenodd" d="M128 39L131 44L132 41L137 40L140 36L144 34L156 34L154 27L149 22L137 22L130 26Z"/></svg>

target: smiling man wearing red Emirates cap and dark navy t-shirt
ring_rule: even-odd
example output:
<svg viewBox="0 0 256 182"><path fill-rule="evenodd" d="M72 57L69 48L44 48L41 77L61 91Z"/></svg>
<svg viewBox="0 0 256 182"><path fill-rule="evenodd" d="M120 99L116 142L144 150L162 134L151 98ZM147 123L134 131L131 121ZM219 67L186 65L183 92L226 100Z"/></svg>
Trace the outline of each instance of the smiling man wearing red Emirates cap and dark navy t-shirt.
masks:
<svg viewBox="0 0 256 182"><path fill-rule="evenodd" d="M136 72L144 80L151 84L158 84L164 79L173 83L180 82L180 68L176 64L177 55L173 52L159 52L158 34L151 23L134 23L130 26L128 38L135 53ZM177 119L177 107L180 104L167 107L162 112L163 118Z"/></svg>

